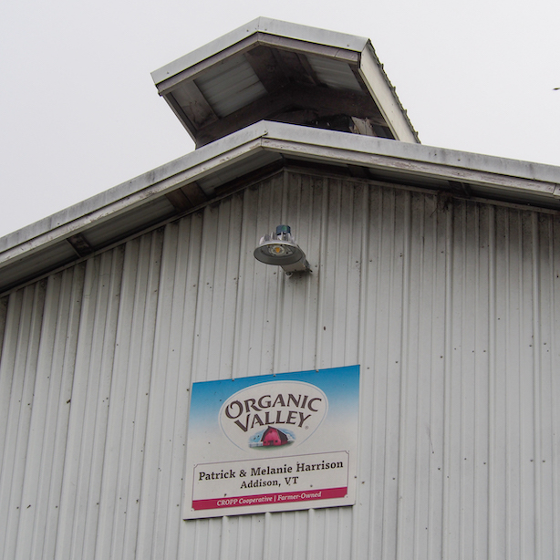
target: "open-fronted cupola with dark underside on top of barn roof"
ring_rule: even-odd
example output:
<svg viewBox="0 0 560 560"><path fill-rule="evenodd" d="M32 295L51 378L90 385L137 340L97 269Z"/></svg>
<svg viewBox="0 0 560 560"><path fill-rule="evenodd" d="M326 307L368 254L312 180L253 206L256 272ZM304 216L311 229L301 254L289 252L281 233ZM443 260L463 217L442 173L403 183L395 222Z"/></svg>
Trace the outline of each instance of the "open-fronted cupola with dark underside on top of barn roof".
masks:
<svg viewBox="0 0 560 560"><path fill-rule="evenodd" d="M259 120L420 143L359 36L259 17L152 78L197 148Z"/></svg>

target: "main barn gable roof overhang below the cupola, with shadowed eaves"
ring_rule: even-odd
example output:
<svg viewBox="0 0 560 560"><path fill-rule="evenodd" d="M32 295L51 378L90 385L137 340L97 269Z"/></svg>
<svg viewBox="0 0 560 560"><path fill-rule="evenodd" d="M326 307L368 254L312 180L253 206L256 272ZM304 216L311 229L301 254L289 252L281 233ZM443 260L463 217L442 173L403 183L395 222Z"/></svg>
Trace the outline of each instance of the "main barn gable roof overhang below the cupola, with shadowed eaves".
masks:
<svg viewBox="0 0 560 560"><path fill-rule="evenodd" d="M0 293L285 166L560 211L559 167L261 121L0 238Z"/></svg>

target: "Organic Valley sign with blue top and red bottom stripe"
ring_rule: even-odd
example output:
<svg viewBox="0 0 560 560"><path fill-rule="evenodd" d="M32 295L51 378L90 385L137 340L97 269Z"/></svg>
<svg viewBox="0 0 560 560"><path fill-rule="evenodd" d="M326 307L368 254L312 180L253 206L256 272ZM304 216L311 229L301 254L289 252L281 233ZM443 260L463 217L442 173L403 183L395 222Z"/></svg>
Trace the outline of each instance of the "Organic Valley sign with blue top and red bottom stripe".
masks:
<svg viewBox="0 0 560 560"><path fill-rule="evenodd" d="M183 519L352 505L359 366L192 384Z"/></svg>

